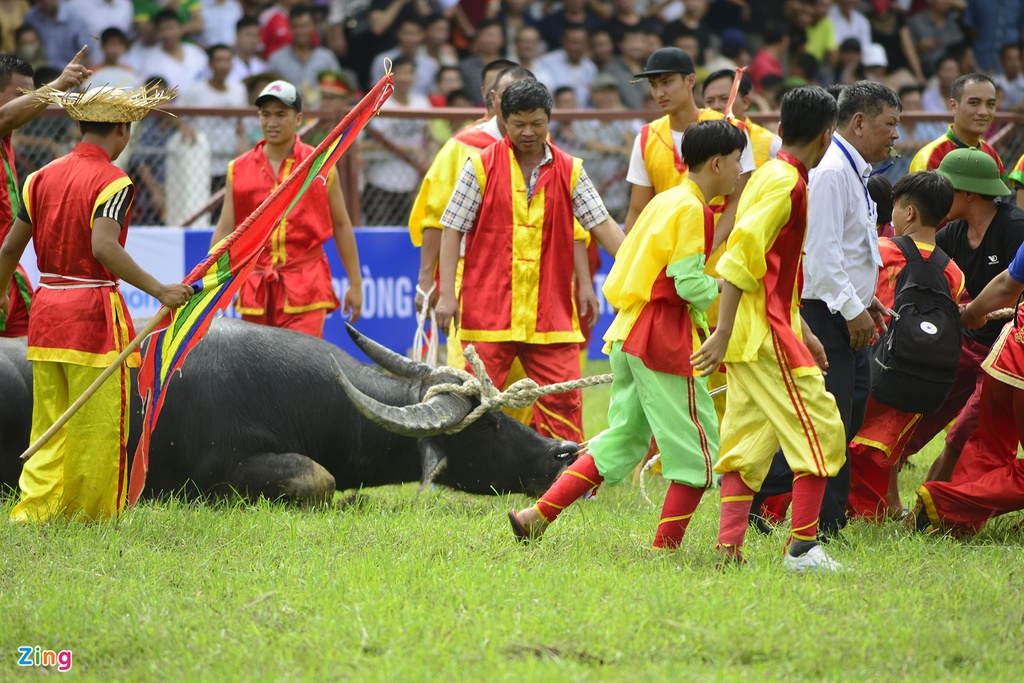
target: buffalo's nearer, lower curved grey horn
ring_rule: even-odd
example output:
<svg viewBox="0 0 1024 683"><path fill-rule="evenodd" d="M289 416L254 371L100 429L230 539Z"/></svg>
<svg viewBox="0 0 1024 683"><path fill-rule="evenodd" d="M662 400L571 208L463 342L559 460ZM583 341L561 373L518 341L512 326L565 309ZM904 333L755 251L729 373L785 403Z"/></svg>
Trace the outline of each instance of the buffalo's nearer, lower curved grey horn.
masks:
<svg viewBox="0 0 1024 683"><path fill-rule="evenodd" d="M356 389L344 372L338 373L338 382L365 418L402 436L422 438L442 434L462 422L472 408L469 399L451 393L437 394L413 405L387 405Z"/></svg>

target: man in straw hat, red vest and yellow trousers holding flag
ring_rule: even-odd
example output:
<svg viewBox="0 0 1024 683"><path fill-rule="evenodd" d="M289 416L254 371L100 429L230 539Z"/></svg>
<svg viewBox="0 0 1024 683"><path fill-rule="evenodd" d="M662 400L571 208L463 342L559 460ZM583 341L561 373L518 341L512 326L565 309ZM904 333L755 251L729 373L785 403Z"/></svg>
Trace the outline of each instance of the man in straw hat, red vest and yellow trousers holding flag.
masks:
<svg viewBox="0 0 1024 683"><path fill-rule="evenodd" d="M40 270L28 352L35 441L134 336L119 279L171 308L193 290L161 284L124 250L134 186L111 163L128 144L131 123L173 93L104 86L69 94L44 87L33 95L63 108L82 131L71 154L26 180L17 218L0 247L0 282L10 279L30 239ZM0 311L9 304L0 294ZM138 354L127 365L137 367ZM104 383L26 463L12 521L118 516L127 480L128 387L122 366L120 381Z"/></svg>

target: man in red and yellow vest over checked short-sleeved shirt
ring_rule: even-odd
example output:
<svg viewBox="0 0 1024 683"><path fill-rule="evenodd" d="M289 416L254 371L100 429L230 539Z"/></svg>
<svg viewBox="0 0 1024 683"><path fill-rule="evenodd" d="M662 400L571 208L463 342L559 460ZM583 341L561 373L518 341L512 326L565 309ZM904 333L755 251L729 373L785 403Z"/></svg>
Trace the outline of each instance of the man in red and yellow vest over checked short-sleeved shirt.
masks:
<svg viewBox="0 0 1024 683"><path fill-rule="evenodd" d="M623 231L610 218L583 162L548 142L551 94L532 80L502 95L507 134L466 162L441 217L437 325L456 319L495 386L516 357L541 385L580 379L580 319L572 292L573 217L614 256ZM461 296L455 292L466 233ZM460 305L461 300L461 305ZM554 438L583 439L582 392L537 402L534 428Z"/></svg>

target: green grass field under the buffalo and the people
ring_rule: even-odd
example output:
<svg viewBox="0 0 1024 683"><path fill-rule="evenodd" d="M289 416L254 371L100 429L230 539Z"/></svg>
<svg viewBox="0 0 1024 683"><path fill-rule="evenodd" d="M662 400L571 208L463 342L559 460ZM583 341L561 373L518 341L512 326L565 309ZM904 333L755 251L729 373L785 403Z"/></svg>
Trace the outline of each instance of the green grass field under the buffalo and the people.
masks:
<svg viewBox="0 0 1024 683"><path fill-rule="evenodd" d="M585 400L593 434L607 388ZM931 457L904 471L905 502ZM665 489L650 480L656 502ZM57 675L17 665L37 645L72 650L71 675L96 681L1024 678L1015 518L969 542L854 522L829 548L849 571L793 577L784 529L752 531L750 565L715 570L715 495L671 554L649 550L658 511L632 486L577 504L530 547L505 517L525 498L408 485L342 499L0 523L0 680Z"/></svg>

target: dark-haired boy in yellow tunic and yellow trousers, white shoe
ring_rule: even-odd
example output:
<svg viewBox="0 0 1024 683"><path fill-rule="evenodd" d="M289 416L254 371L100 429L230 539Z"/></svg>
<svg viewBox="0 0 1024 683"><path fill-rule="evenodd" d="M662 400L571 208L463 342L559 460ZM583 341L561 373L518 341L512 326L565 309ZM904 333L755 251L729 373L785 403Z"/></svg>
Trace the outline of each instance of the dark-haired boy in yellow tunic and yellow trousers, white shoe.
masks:
<svg viewBox="0 0 1024 683"><path fill-rule="evenodd" d="M821 376L824 350L799 313L807 172L828 148L836 113L836 100L821 88L797 88L782 98L782 148L755 171L739 201L718 266L724 279L718 328L692 356L702 374L724 359L729 378L715 465L724 475L721 564L742 561L754 493L781 443L796 473L784 565L798 572L840 568L815 539L825 479L846 457L843 422Z"/></svg>

